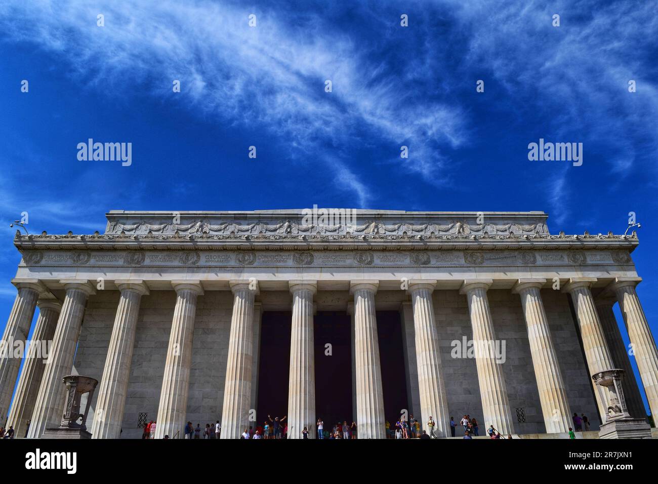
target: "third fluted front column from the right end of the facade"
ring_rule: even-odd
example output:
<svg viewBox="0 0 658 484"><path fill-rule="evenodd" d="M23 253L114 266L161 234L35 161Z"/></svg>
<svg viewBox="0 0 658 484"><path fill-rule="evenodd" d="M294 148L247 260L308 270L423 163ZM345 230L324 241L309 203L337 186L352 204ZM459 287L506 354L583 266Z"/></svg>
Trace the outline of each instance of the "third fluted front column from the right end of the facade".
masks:
<svg viewBox="0 0 658 484"><path fill-rule="evenodd" d="M546 433L566 433L572 427L572 420L565 382L542 302L541 289L545 282L546 279L519 279L512 291L521 297Z"/></svg>

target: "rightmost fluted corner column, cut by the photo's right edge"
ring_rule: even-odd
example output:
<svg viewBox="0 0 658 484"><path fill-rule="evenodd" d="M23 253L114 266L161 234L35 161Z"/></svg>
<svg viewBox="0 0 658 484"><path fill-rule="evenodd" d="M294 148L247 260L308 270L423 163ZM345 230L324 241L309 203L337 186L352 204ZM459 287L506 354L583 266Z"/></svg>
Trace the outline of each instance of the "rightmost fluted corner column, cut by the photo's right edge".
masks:
<svg viewBox="0 0 658 484"><path fill-rule="evenodd" d="M621 313L624 315L628 338L635 354L635 362L638 364L644 392L647 394L651 415L655 419L655 416L658 416L658 349L642 310L638 293L635 291L635 286L640 281L642 281L640 277L617 277L613 282L613 288L617 294ZM632 378L633 375L628 377Z"/></svg>

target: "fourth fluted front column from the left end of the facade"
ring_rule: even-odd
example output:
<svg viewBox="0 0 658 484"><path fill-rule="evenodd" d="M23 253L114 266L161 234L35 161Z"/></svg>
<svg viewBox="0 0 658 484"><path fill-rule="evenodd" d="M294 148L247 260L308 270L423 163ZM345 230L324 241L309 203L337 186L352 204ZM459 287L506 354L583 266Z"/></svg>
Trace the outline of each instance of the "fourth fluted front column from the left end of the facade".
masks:
<svg viewBox="0 0 658 484"><path fill-rule="evenodd" d="M164 363L163 385L155 426L156 439L163 439L165 435L170 439L185 437L194 320L197 298L203 294L200 281L180 280L171 281L171 284L176 291L176 308Z"/></svg>

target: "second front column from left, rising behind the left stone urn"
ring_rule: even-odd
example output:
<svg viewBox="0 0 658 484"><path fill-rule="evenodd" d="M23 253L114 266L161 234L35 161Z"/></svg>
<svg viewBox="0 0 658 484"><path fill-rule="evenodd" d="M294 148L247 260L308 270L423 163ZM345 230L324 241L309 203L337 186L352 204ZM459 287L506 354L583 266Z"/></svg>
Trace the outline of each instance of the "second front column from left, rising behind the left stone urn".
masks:
<svg viewBox="0 0 658 484"><path fill-rule="evenodd" d="M62 379L73 369L87 298L96 294L95 287L86 279L66 279L61 284L66 295L34 403L28 431L30 439L39 439L48 427L59 427L66 405L66 386Z"/></svg>

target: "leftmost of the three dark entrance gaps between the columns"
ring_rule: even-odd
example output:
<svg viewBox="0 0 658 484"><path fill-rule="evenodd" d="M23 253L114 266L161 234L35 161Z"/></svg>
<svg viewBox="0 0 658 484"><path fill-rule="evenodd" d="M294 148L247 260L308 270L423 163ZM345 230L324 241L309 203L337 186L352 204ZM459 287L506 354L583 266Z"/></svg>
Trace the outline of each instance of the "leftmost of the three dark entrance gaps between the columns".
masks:
<svg viewBox="0 0 658 484"><path fill-rule="evenodd" d="M263 425L268 414L274 419L288 413L291 318L290 311L263 312L256 414L258 425Z"/></svg>

